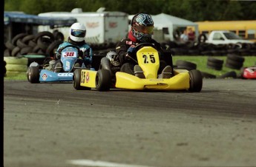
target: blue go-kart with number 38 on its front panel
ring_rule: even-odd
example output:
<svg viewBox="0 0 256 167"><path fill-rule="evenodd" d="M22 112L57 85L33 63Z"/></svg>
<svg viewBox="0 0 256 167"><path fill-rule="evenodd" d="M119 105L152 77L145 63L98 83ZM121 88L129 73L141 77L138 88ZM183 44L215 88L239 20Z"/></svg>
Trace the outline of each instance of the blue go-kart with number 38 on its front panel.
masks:
<svg viewBox="0 0 256 167"><path fill-rule="evenodd" d="M74 70L85 68L82 59L79 59L79 52L79 47L68 45L62 49L58 63L50 57L46 58L42 65L31 63L27 67L27 81L30 83L73 81Z"/></svg>

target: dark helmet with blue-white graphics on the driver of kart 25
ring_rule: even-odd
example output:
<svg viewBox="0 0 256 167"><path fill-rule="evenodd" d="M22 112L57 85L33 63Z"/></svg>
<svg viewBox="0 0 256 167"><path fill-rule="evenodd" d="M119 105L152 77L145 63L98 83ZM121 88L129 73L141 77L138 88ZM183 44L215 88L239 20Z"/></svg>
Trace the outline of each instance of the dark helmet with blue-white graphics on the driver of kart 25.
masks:
<svg viewBox="0 0 256 167"><path fill-rule="evenodd" d="M148 42L153 29L154 21L147 13L138 13L131 19L131 32L139 41Z"/></svg>

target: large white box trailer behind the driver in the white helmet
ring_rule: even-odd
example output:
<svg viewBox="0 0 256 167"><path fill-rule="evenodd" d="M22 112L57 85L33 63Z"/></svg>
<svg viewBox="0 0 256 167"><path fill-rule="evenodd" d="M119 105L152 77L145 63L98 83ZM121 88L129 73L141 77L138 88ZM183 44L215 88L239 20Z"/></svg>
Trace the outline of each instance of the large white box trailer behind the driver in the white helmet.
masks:
<svg viewBox="0 0 256 167"><path fill-rule="evenodd" d="M120 41L128 34L128 14L112 11L82 12L82 9L75 8L71 12L50 12L39 13L39 16L76 18L77 21L85 24L85 41L88 44L110 44ZM63 33L65 39L69 35L69 27L57 28ZM54 29L56 30L56 29ZM50 26L39 26L40 31L50 31Z"/></svg>

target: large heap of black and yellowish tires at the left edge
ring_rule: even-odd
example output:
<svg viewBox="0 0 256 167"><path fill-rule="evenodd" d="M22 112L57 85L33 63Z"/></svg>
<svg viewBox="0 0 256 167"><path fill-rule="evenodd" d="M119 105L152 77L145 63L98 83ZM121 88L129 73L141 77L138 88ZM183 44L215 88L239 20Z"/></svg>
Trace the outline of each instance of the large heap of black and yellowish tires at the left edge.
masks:
<svg viewBox="0 0 256 167"><path fill-rule="evenodd" d="M58 31L43 31L36 35L19 33L4 44L6 74L26 72L33 61L43 64L45 58L55 55L54 52L63 41L64 35Z"/></svg>

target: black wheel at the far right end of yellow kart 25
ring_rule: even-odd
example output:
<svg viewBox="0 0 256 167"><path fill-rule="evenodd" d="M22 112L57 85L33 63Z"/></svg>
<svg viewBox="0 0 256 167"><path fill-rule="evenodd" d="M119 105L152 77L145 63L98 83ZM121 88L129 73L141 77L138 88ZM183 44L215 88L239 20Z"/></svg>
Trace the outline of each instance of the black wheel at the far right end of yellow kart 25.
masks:
<svg viewBox="0 0 256 167"><path fill-rule="evenodd" d="M192 69L188 72L190 80L189 80L189 91L190 92L200 92L203 86L203 77L199 70Z"/></svg>

